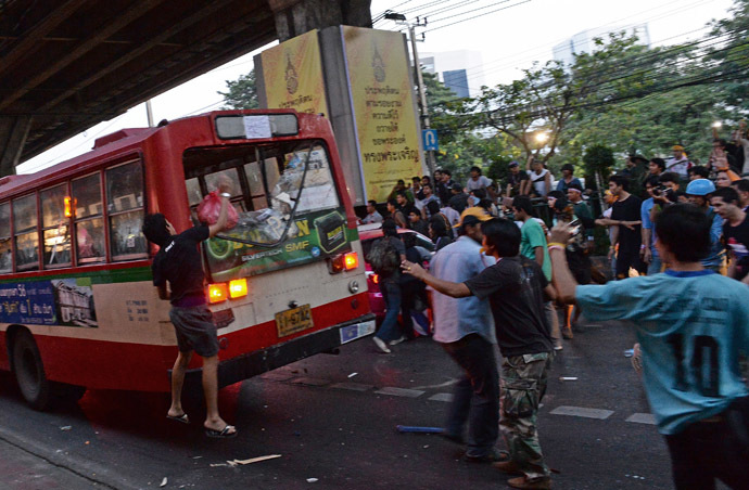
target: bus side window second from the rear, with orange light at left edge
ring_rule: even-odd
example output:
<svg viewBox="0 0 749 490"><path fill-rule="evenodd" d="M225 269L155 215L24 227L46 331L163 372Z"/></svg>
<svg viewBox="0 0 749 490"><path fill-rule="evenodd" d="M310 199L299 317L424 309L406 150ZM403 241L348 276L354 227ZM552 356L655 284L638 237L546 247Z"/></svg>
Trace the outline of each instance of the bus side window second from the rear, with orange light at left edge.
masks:
<svg viewBox="0 0 749 490"><path fill-rule="evenodd" d="M72 183L76 203L75 244L78 263L103 262L106 259L101 180L93 173Z"/></svg>

